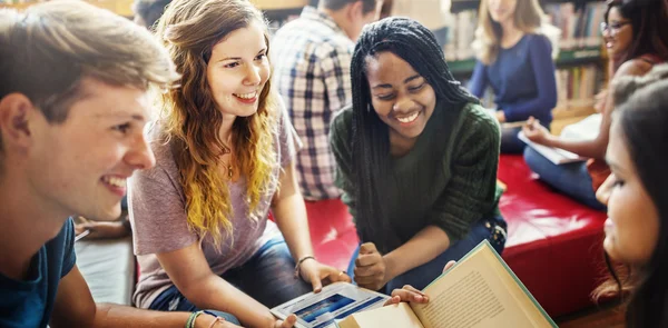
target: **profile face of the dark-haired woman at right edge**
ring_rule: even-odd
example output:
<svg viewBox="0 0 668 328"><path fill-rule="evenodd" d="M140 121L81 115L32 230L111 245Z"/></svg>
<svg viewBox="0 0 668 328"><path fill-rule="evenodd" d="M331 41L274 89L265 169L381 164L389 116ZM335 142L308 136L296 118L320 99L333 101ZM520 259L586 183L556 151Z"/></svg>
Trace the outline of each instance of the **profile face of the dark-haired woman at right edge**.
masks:
<svg viewBox="0 0 668 328"><path fill-rule="evenodd" d="M606 157L612 175L598 190L608 206L603 247L620 262L642 266L649 262L659 238L659 215L636 171L617 120Z"/></svg>

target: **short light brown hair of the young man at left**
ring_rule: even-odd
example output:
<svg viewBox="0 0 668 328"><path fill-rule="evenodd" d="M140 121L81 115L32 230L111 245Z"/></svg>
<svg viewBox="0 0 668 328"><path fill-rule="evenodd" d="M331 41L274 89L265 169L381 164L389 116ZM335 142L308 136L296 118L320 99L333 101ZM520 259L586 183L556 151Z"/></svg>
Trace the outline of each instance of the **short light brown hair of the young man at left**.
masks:
<svg viewBox="0 0 668 328"><path fill-rule="evenodd" d="M148 31L82 1L0 9L0 99L22 93L50 122L67 119L84 78L141 90L178 79Z"/></svg>

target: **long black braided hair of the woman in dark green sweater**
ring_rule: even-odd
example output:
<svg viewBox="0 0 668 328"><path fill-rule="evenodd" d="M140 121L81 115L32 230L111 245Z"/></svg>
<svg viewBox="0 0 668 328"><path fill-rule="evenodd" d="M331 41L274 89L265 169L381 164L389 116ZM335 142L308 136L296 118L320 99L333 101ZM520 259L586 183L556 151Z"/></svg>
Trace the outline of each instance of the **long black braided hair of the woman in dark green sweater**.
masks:
<svg viewBox="0 0 668 328"><path fill-rule="evenodd" d="M353 175L356 186L357 232L364 241L373 241L383 252L400 245L396 232L387 225L380 199L387 178L390 130L371 102L366 78L366 59L389 51L405 60L434 89L436 108L445 105L461 110L468 102L480 103L456 81L434 34L419 22L406 18L385 18L367 24L355 46L351 77L353 88Z"/></svg>

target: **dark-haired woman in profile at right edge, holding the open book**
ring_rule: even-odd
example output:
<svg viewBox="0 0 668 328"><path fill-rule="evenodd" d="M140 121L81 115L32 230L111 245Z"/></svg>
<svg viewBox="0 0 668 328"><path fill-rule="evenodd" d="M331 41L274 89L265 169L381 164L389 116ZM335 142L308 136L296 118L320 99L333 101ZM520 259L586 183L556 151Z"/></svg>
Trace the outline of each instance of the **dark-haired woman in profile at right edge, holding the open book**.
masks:
<svg viewBox="0 0 668 328"><path fill-rule="evenodd" d="M608 206L603 248L611 278L595 298L622 296L626 327L668 327L668 64L620 77L612 88L617 109L606 155L612 175L597 195ZM386 305L430 297L412 286L392 296Z"/></svg>

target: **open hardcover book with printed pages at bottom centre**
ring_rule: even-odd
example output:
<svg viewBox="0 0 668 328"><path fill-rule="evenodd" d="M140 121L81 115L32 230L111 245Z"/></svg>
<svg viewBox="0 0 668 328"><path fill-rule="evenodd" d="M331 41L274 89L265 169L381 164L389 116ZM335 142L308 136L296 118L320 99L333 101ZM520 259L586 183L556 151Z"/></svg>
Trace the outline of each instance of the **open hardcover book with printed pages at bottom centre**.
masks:
<svg viewBox="0 0 668 328"><path fill-rule="evenodd" d="M428 304L402 302L353 314L340 328L557 327L484 240L423 290Z"/></svg>

